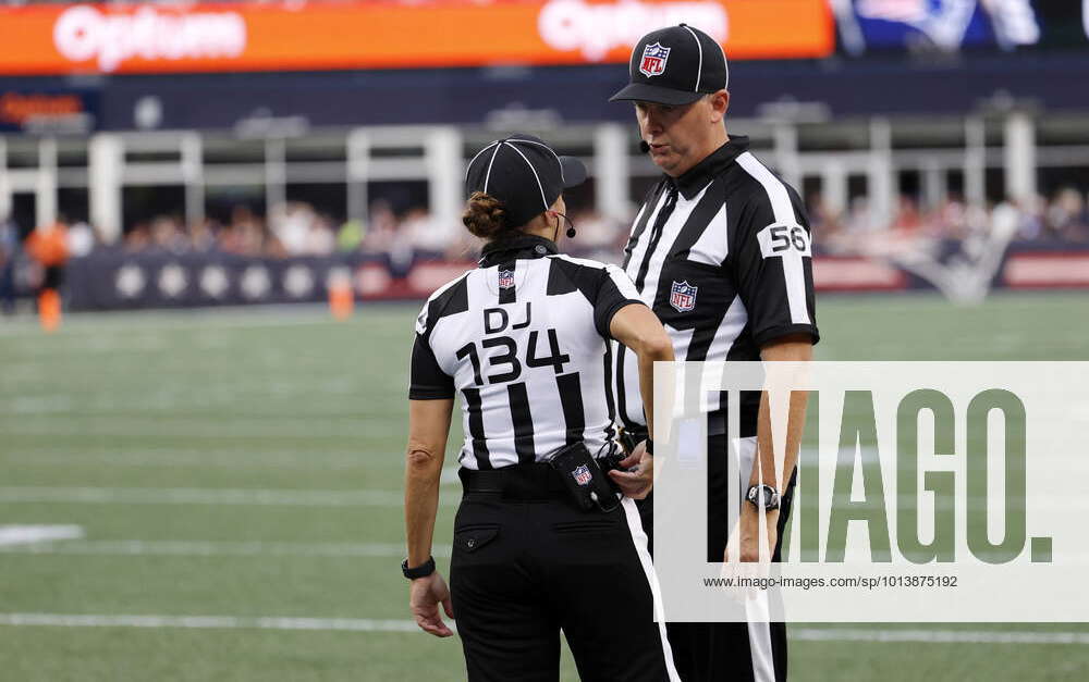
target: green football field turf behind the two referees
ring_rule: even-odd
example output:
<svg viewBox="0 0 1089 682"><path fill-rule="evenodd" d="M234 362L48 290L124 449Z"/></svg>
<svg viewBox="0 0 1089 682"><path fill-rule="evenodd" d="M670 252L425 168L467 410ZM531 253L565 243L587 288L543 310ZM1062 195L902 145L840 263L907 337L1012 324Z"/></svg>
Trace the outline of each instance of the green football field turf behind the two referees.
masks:
<svg viewBox="0 0 1089 682"><path fill-rule="evenodd" d="M0 680L464 679L399 569L416 311L84 314L50 336L0 319ZM819 315L823 360L1089 360L1086 294L823 297ZM792 632L793 680L1089 679L1087 625Z"/></svg>

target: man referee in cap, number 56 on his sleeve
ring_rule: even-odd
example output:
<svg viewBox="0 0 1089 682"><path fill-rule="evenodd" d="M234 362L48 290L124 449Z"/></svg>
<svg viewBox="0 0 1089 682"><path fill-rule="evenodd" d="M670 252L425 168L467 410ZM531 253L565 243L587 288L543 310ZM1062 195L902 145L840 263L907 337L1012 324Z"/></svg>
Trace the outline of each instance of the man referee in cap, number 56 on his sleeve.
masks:
<svg viewBox="0 0 1089 682"><path fill-rule="evenodd" d="M798 194L747 151L748 139L726 134L722 48L697 28L671 26L639 40L628 71L631 83L612 101L635 102L641 148L664 175L636 216L624 269L665 325L676 359L808 361L819 338L809 222ZM646 420L635 362L616 350L619 412L638 433ZM741 438L743 476L751 461L747 501L726 481L725 397L709 407L708 561L722 560L727 505L741 505L743 561L759 556L759 500L774 560L790 514L805 394L791 399L782 492L757 485L761 469L764 482L775 481L767 400L752 392L741 402L741 433L731 435ZM651 528L650 498L643 511ZM686 682L786 679L784 623L670 623L668 635Z"/></svg>

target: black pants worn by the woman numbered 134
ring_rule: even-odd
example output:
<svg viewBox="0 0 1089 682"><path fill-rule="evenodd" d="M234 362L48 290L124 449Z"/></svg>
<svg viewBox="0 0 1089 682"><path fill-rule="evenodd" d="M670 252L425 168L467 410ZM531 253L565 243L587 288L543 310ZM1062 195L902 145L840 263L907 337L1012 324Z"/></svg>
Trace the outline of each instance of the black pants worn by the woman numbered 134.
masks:
<svg viewBox="0 0 1089 682"><path fill-rule="evenodd" d="M584 682L675 680L633 500L604 513L563 491L519 497L466 492L454 521L450 588L468 679L559 680L562 630Z"/></svg>

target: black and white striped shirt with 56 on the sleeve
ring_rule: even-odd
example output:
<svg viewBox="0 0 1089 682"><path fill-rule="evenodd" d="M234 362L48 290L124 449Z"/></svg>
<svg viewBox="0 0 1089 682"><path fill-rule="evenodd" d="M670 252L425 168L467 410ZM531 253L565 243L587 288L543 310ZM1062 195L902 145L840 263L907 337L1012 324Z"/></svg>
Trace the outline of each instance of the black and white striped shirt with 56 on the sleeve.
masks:
<svg viewBox="0 0 1089 682"><path fill-rule="evenodd" d="M797 193L732 137L681 177L663 175L635 219L624 270L661 319L677 361L759 360L788 334L817 343L809 221ZM616 350L621 421L646 424L637 363ZM709 424L722 433L722 398ZM759 395L742 400L742 434L756 433Z"/></svg>

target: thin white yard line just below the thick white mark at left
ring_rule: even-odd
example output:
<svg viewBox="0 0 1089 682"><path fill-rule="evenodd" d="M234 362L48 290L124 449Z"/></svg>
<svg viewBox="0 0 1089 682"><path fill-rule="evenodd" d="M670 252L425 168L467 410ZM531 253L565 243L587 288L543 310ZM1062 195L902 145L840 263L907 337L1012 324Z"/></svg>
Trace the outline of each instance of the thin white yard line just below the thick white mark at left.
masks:
<svg viewBox="0 0 1089 682"><path fill-rule="evenodd" d="M431 553L449 557L450 545L436 545ZM405 546L396 543L277 543L230 541L146 541L96 540L71 542L39 541L34 544L4 546L0 554L59 554L102 556L189 556L189 557L395 557L405 556Z"/></svg>

